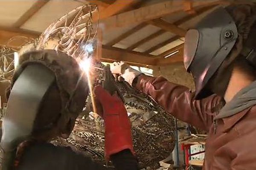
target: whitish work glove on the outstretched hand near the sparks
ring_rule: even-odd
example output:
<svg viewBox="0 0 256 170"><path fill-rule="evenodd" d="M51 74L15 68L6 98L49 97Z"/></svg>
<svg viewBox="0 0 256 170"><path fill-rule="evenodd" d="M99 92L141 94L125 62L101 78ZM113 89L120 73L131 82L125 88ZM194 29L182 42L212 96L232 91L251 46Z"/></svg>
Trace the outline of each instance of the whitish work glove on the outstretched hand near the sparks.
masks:
<svg viewBox="0 0 256 170"><path fill-rule="evenodd" d="M125 62L113 62L113 65L111 65L111 72L112 74L120 75L125 79L126 82L128 82L130 85L132 85L133 80L142 74L140 71L134 70L131 68L128 64Z"/></svg>

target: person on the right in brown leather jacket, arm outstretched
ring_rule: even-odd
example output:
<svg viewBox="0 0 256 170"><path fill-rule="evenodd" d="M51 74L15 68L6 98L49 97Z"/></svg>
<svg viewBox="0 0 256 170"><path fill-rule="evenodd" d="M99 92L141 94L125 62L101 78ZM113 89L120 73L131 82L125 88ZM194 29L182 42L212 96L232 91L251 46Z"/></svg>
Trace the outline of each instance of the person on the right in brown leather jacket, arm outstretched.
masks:
<svg viewBox="0 0 256 170"><path fill-rule="evenodd" d="M204 170L256 170L256 3L219 7L187 31L184 65L195 92L124 62L111 71L208 132Z"/></svg>

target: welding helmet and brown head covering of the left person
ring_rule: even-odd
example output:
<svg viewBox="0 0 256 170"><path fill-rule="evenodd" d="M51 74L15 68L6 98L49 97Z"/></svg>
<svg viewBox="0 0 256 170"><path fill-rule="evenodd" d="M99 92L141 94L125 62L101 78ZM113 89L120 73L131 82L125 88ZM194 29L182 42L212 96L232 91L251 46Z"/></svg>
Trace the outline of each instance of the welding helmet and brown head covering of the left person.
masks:
<svg viewBox="0 0 256 170"><path fill-rule="evenodd" d="M87 80L72 57L55 50L21 55L2 123L2 170L12 169L20 143L68 137L87 95Z"/></svg>

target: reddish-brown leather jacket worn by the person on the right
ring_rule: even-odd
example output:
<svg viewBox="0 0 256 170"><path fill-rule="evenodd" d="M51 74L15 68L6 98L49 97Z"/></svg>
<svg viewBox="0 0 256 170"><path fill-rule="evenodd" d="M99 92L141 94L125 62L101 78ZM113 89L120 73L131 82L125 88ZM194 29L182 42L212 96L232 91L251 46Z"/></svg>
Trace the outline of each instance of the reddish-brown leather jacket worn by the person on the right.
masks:
<svg viewBox="0 0 256 170"><path fill-rule="evenodd" d="M256 107L213 121L221 97L194 100L188 88L163 77L140 75L136 88L152 96L165 110L208 132L203 170L256 170Z"/></svg>

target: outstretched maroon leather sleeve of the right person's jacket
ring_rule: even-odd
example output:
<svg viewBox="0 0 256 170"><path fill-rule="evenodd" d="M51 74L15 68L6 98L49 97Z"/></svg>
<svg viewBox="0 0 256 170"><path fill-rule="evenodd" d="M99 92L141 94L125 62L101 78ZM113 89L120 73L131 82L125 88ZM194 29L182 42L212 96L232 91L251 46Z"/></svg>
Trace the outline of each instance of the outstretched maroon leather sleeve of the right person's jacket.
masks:
<svg viewBox="0 0 256 170"><path fill-rule="evenodd" d="M212 108L221 97L212 95L202 100L194 100L195 93L189 88L168 82L163 77L137 77L136 88L150 95L158 104L177 119L202 130L209 131L213 122Z"/></svg>

